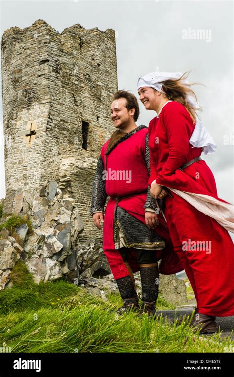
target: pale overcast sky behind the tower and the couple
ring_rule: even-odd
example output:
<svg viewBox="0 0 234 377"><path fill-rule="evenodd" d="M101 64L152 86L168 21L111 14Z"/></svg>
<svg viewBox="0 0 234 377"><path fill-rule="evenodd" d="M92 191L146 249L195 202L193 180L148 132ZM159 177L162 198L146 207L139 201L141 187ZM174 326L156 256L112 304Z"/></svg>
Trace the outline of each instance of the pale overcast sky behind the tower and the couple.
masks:
<svg viewBox="0 0 234 377"><path fill-rule="evenodd" d="M218 196L234 202L233 142L233 2L232 1L0 1L0 33L43 19L60 33L74 24L116 33L118 87L137 95L137 78L154 71L193 69L204 107L202 121L217 144L202 157L211 167ZM199 30L203 38L199 39ZM195 37L192 39L192 37ZM157 68L156 68L157 67ZM1 97L1 96L0 96ZM138 124L156 113L140 106ZM5 196L3 117L0 98L0 198ZM231 139L232 140L232 139Z"/></svg>

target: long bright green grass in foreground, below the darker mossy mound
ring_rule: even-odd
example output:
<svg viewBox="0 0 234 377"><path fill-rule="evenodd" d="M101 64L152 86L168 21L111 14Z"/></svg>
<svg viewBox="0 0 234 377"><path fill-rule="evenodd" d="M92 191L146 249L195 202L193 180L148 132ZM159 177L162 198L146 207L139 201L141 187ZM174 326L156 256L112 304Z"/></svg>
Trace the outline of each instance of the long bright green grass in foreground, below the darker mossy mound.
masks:
<svg viewBox="0 0 234 377"><path fill-rule="evenodd" d="M116 317L110 304L82 289L56 308L12 312L0 318L0 344L12 352L224 352L219 335L194 335L186 325L135 313Z"/></svg>

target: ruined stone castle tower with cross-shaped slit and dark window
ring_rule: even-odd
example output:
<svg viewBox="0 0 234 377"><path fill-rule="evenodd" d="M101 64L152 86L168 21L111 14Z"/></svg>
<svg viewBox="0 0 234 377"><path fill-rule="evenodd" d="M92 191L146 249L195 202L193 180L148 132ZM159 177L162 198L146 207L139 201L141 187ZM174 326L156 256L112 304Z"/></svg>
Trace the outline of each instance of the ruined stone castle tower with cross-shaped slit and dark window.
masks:
<svg viewBox="0 0 234 377"><path fill-rule="evenodd" d="M114 127L115 32L79 24L61 34L43 20L6 30L1 41L6 198L18 189L57 181L75 198L84 221L80 239L101 239L88 213L102 144Z"/></svg>

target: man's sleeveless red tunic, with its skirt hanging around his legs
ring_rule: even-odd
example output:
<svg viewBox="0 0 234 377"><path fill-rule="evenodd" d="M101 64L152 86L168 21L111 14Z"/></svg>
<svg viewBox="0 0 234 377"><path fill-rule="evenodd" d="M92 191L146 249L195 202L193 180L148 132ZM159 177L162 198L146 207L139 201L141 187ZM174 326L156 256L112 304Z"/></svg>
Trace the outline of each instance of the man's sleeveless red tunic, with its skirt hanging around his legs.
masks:
<svg viewBox="0 0 234 377"><path fill-rule="evenodd" d="M103 145L101 150L101 158L104 163L104 169L107 171L108 179L106 179L106 193L110 196L107 203L104 226L103 226L103 250L110 264L115 279L129 275L129 271L123 262L122 256L115 249L114 243L114 207L116 203L115 197L127 196L122 198L118 206L126 210L130 215L134 216L145 224L145 208L144 204L147 197L147 187L149 172L144 160L145 156L145 137L148 132L147 128L139 129L126 140L118 143L109 154L107 151L110 139ZM111 178L111 171L131 171L131 182L127 180L116 180ZM173 274L183 270L177 254L174 252L169 232L166 229L163 218L159 218L159 226L155 231L166 241L166 247L163 250L153 251L157 254L157 259L161 259L160 272L163 274ZM136 263L136 252L129 248L129 264L136 272L139 266Z"/></svg>

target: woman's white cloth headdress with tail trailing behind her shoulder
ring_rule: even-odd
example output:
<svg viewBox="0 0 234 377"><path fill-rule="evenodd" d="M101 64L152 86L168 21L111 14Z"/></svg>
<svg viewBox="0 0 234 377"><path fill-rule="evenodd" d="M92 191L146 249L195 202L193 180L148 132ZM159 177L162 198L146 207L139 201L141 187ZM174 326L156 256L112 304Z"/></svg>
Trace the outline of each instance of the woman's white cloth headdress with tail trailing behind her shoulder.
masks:
<svg viewBox="0 0 234 377"><path fill-rule="evenodd" d="M178 79L182 76L181 72L151 72L145 76L139 77L137 83L137 89L142 87L151 87L156 89L158 92L165 93L162 90L163 81L169 79ZM189 84L188 80L183 79L182 82L186 85ZM195 97L193 95L188 95L187 101L193 106L194 109L199 108ZM200 119L196 115L196 125L194 132L189 140L193 147L203 148L204 154L209 155L215 152L217 145L214 139L206 130L204 125L201 123Z"/></svg>

